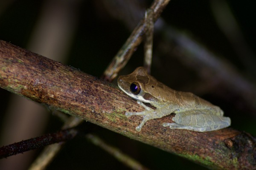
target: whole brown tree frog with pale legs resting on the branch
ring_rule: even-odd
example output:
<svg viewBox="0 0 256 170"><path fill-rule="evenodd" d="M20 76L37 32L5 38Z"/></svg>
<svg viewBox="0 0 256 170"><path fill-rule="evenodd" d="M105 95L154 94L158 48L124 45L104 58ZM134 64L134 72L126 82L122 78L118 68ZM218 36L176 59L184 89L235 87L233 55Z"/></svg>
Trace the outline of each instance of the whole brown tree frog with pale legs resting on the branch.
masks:
<svg viewBox="0 0 256 170"><path fill-rule="evenodd" d="M125 116L143 116L141 131L145 122L175 113L172 122L163 122L163 127L198 132L219 130L231 125L229 117L218 106L190 92L175 91L157 81L144 67L136 68L131 74L119 76L118 87L145 108L141 112L126 112ZM146 106L149 103L155 109ZM147 104L148 105L148 104Z"/></svg>

